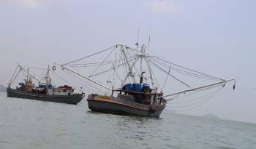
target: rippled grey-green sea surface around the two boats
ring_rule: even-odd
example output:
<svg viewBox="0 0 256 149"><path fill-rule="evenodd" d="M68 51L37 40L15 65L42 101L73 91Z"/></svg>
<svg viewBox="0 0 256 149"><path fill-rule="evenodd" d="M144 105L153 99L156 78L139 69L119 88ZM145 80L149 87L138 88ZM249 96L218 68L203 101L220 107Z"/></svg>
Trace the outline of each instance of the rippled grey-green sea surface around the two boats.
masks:
<svg viewBox="0 0 256 149"><path fill-rule="evenodd" d="M256 117L255 117L256 118ZM161 118L91 112L0 93L0 148L256 148L256 124L169 113Z"/></svg>

